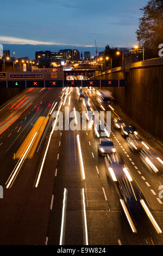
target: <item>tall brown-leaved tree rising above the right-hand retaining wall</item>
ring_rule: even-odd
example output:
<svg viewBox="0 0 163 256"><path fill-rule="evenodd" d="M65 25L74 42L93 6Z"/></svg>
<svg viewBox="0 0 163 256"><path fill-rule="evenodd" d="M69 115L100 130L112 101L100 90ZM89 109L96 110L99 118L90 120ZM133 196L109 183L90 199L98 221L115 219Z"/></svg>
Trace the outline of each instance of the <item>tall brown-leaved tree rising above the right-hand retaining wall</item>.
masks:
<svg viewBox="0 0 163 256"><path fill-rule="evenodd" d="M163 44L163 1L151 0L140 9L143 17L139 19L137 40L145 47L145 57L159 57L159 44Z"/></svg>

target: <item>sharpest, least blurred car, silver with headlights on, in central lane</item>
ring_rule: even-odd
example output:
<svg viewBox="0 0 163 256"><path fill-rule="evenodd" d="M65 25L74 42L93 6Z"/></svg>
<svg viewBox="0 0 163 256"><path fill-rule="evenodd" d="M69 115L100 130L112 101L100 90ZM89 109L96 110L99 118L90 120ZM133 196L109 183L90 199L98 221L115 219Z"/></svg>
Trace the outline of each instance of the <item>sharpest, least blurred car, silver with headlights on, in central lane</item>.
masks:
<svg viewBox="0 0 163 256"><path fill-rule="evenodd" d="M108 154L115 153L116 149L114 143L109 138L100 138L98 142L98 154L106 156Z"/></svg>

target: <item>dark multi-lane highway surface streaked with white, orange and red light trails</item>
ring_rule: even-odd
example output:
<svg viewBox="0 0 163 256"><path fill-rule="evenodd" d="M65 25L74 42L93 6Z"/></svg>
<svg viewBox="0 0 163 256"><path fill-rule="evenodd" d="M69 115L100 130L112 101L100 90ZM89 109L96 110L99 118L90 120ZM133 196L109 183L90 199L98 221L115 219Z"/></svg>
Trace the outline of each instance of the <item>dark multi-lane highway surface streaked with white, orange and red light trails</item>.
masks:
<svg viewBox="0 0 163 256"><path fill-rule="evenodd" d="M103 110L95 90L85 88L84 95L92 112ZM106 174L92 130L65 129L67 120L78 125L77 112L82 124L86 108L78 89L33 88L0 109L1 245L162 244L163 200L158 194L163 177L150 172L114 129L119 113L113 107L110 138L149 210L140 215L134 205L135 214L130 216L136 216L135 230L126 215L131 209L122 205L115 182ZM57 117L63 114L60 130L54 111Z"/></svg>

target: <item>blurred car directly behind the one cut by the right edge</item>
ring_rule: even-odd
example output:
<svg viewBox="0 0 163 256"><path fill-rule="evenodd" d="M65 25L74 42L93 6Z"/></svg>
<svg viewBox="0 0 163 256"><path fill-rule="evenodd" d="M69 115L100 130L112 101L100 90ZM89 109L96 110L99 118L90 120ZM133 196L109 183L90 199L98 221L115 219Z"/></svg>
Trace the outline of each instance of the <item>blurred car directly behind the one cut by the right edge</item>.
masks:
<svg viewBox="0 0 163 256"><path fill-rule="evenodd" d="M140 151L143 148L142 139L134 133L130 133L126 138L129 148L133 151Z"/></svg>

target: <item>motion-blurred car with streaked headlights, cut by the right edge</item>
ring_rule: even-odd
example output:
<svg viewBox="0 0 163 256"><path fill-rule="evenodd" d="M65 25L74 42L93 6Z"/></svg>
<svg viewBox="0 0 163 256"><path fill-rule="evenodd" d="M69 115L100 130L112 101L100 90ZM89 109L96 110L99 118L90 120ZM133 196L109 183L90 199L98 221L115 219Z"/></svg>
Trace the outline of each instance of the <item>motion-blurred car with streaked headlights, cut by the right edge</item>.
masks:
<svg viewBox="0 0 163 256"><path fill-rule="evenodd" d="M140 157L151 172L160 173L162 175L163 161L159 154L157 154L154 150L143 148L140 150Z"/></svg>

